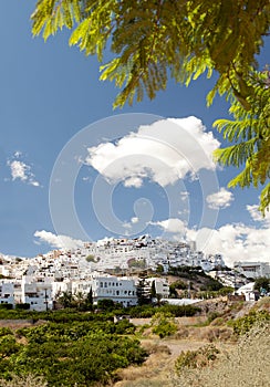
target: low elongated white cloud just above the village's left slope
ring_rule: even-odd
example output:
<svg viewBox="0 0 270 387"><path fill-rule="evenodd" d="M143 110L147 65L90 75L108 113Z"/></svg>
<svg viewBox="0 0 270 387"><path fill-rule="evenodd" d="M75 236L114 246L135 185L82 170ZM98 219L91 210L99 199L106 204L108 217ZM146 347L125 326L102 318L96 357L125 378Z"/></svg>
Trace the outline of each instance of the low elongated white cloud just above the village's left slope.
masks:
<svg viewBox="0 0 270 387"><path fill-rule="evenodd" d="M73 239L68 236L56 236L45 230L35 231L34 237L56 249L76 249L83 247L84 243L79 239Z"/></svg>

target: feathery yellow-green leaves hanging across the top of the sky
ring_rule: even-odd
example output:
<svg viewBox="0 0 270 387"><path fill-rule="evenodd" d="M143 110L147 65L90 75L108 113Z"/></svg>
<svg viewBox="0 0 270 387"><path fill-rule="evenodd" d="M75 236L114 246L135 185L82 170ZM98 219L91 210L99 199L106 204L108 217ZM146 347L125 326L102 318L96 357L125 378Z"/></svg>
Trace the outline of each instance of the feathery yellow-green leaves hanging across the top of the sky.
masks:
<svg viewBox="0 0 270 387"><path fill-rule="evenodd" d="M168 71L187 85L207 72L219 73L212 94L231 90L247 100L245 75L269 29L267 0L98 1L39 0L32 14L34 35L44 40L63 27L72 29L71 45L103 59L110 44L115 55L103 65L102 80L123 91L115 105L154 98L167 84ZM229 22L228 22L229 21ZM190 39L193 36L193 39ZM210 97L209 97L210 100Z"/></svg>

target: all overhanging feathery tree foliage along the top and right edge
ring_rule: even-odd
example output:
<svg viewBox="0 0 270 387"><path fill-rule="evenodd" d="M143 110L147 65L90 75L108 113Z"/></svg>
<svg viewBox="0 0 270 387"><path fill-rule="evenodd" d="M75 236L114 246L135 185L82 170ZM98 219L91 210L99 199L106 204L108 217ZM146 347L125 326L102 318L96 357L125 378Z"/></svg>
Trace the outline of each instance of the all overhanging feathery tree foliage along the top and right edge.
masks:
<svg viewBox="0 0 270 387"><path fill-rule="evenodd" d="M242 166L230 186L261 186L260 209L270 205L270 81L258 71L256 55L269 34L269 0L39 0L32 14L34 35L44 40L64 27L70 44L86 55L110 46L101 80L122 88L114 106L154 98L168 76L188 85L202 73L217 82L207 97L225 95L232 122L216 126L229 142L216 153L224 165Z"/></svg>

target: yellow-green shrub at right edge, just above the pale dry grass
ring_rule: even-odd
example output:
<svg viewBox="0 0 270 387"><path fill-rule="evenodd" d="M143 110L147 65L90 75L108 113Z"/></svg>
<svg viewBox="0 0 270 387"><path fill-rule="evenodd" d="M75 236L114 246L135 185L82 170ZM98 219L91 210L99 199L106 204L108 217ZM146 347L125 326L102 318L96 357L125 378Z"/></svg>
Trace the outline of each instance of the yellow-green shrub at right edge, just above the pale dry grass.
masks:
<svg viewBox="0 0 270 387"><path fill-rule="evenodd" d="M249 332L255 325L270 321L270 314L268 311L251 311L247 316L231 321L230 325L233 327L236 335L243 335Z"/></svg>

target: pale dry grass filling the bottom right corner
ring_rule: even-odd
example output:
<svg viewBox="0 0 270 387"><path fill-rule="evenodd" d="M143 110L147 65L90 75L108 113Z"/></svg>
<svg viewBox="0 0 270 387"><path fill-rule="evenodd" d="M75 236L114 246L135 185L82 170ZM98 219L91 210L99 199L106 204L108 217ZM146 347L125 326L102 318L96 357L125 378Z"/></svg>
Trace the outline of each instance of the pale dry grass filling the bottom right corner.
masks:
<svg viewBox="0 0 270 387"><path fill-rule="evenodd" d="M170 374L170 387L266 387L270 381L270 328L255 327L214 367ZM150 387L152 385L149 385ZM153 385L154 387L154 385Z"/></svg>

